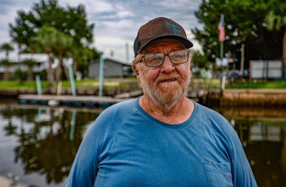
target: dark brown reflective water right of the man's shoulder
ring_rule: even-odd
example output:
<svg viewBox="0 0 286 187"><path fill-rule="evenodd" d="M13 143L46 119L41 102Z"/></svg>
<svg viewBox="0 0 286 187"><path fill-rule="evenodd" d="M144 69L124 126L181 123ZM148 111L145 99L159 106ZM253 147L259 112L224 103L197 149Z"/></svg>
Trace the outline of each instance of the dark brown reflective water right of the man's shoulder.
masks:
<svg viewBox="0 0 286 187"><path fill-rule="evenodd" d="M216 108L236 130L257 185L286 186L286 109Z"/></svg>

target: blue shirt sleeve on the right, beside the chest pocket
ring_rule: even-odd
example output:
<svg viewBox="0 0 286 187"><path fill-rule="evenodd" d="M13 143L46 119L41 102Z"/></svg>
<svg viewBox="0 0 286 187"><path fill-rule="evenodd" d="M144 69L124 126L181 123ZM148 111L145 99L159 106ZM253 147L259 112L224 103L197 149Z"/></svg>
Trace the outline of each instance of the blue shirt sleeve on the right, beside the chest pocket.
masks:
<svg viewBox="0 0 286 187"><path fill-rule="evenodd" d="M242 148L238 135L230 126L230 141L232 144L231 171L234 187L256 187L256 181L251 167Z"/></svg>

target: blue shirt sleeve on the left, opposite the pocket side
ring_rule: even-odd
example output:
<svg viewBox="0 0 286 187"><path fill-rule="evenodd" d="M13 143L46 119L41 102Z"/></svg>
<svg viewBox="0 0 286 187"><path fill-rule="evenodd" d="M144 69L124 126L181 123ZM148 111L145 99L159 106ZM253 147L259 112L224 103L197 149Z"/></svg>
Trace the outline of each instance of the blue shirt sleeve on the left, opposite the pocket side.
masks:
<svg viewBox="0 0 286 187"><path fill-rule="evenodd" d="M133 104L134 101L112 105L96 118L81 142L66 187L94 186L101 153L107 149L110 140L124 124L124 120L134 112L132 107L128 107L130 103Z"/></svg>

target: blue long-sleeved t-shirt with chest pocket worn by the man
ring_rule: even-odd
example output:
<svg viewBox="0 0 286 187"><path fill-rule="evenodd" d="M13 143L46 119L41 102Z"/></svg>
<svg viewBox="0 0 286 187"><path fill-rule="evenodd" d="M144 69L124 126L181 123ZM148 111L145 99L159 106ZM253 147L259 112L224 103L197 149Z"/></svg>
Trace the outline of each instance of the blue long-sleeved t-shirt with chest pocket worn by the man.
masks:
<svg viewBox="0 0 286 187"><path fill-rule="evenodd" d="M104 110L84 137L67 186L257 186L239 138L194 102L184 123L163 123L139 98Z"/></svg>

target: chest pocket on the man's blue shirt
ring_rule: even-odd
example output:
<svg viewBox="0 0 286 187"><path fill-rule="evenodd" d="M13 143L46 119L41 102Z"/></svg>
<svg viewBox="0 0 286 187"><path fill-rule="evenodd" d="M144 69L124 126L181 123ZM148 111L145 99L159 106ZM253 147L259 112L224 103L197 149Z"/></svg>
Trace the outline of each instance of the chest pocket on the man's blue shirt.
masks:
<svg viewBox="0 0 286 187"><path fill-rule="evenodd" d="M204 163L209 187L232 187L230 163Z"/></svg>

